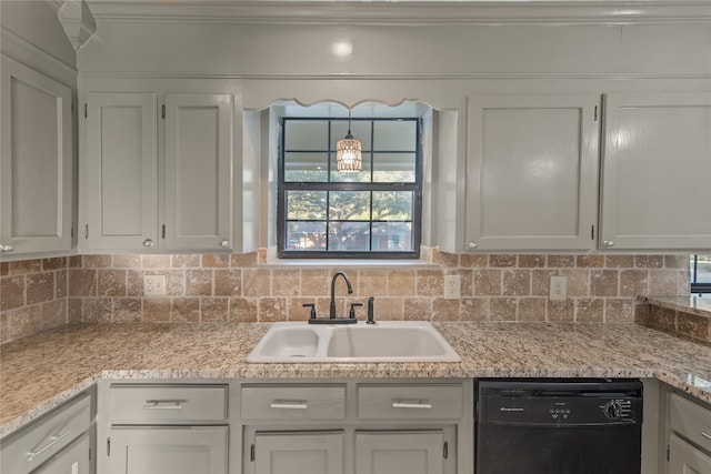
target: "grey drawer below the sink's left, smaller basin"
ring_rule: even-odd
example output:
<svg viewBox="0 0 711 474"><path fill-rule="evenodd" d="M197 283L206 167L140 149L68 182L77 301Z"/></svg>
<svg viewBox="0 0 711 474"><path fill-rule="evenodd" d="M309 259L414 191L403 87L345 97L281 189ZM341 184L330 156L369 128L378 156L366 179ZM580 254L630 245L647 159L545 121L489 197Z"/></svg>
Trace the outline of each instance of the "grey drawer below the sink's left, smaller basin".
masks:
<svg viewBox="0 0 711 474"><path fill-rule="evenodd" d="M346 386L243 386L241 415L243 420L342 420Z"/></svg>

